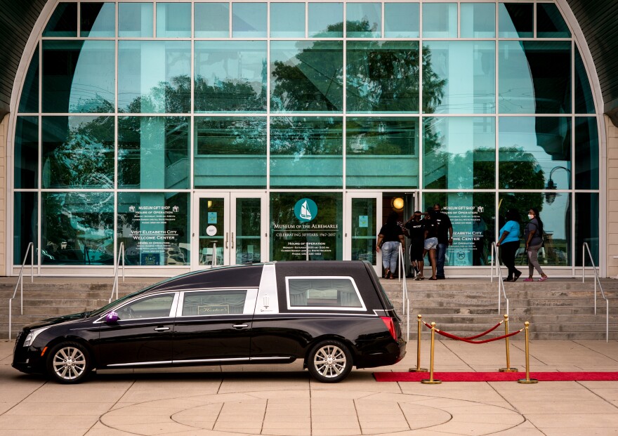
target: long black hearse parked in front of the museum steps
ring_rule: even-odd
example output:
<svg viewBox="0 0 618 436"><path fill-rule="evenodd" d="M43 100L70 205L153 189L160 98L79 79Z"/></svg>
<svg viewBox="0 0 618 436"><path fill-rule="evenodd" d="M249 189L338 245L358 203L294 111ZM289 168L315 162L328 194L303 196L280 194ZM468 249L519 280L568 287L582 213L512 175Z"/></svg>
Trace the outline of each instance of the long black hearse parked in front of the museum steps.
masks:
<svg viewBox="0 0 618 436"><path fill-rule="evenodd" d="M13 367L79 383L93 369L290 363L317 380L405 355L372 265L283 262L191 272L18 334Z"/></svg>

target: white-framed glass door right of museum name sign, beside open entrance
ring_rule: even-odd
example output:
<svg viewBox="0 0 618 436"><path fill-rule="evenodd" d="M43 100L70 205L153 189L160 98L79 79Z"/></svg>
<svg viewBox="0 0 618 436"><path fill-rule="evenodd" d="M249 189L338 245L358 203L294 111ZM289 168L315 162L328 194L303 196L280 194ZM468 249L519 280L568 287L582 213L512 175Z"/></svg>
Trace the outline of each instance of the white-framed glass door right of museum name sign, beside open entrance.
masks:
<svg viewBox="0 0 618 436"><path fill-rule="evenodd" d="M381 253L376 253L376 238L380 230L381 192L348 192L346 194L345 257L367 260L381 274Z"/></svg>

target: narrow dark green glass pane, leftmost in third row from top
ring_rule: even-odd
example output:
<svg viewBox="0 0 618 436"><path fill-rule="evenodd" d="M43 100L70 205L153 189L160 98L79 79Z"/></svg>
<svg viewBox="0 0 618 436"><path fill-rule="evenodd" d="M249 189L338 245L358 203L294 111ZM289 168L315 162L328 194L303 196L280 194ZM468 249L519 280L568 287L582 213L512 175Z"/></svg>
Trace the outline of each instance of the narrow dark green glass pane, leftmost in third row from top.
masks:
<svg viewBox="0 0 618 436"><path fill-rule="evenodd" d="M17 117L15 123L15 188L39 187L39 118Z"/></svg>

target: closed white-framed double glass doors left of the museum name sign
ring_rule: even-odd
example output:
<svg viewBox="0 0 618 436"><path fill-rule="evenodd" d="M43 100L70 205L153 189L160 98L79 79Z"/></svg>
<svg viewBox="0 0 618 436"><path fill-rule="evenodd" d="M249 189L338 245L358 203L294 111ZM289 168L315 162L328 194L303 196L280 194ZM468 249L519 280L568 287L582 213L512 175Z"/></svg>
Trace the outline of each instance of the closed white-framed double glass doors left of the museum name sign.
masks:
<svg viewBox="0 0 618 436"><path fill-rule="evenodd" d="M268 261L268 202L256 192L195 194L192 268Z"/></svg>

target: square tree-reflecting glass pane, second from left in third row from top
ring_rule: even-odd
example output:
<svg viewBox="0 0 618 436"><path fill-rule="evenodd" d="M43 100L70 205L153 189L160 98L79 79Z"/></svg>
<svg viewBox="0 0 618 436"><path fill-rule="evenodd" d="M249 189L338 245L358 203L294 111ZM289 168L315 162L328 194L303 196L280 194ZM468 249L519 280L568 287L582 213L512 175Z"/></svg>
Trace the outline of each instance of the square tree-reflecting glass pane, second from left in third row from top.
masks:
<svg viewBox="0 0 618 436"><path fill-rule="evenodd" d="M42 187L114 187L113 117L43 117L41 131Z"/></svg>

